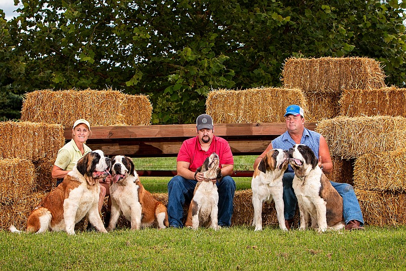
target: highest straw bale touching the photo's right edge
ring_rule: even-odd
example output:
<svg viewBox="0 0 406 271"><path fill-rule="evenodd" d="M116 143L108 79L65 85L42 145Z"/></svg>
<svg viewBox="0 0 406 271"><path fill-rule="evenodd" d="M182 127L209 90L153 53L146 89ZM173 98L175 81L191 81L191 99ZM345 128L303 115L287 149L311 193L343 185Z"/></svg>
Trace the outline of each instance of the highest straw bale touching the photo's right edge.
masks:
<svg viewBox="0 0 406 271"><path fill-rule="evenodd" d="M339 102L340 115L346 117L384 115L406 117L405 95L406 89L397 87L344 90Z"/></svg>

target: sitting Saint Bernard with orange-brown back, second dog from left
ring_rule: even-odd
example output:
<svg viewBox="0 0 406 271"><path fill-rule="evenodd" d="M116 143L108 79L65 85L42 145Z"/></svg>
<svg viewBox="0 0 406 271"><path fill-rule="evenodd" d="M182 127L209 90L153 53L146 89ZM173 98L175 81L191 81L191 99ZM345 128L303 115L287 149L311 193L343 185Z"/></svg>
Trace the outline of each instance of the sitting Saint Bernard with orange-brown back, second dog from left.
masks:
<svg viewBox="0 0 406 271"><path fill-rule="evenodd" d="M121 214L131 222L131 229L151 226L162 229L169 225L166 207L144 189L131 158L114 156L111 171L112 206L108 231L116 227Z"/></svg>

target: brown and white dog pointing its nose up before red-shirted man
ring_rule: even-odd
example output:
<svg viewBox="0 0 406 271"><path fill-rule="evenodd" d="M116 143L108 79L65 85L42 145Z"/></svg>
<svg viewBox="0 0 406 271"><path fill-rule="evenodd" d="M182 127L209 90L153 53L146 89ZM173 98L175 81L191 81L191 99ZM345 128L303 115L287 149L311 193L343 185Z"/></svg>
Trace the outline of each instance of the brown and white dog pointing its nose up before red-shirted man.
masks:
<svg viewBox="0 0 406 271"><path fill-rule="evenodd" d="M205 180L197 182L193 198L189 205L185 226L197 229L199 226L219 229L218 203L219 193L216 183L212 180L221 180L219 156L214 152L199 166L196 173L202 172Z"/></svg>

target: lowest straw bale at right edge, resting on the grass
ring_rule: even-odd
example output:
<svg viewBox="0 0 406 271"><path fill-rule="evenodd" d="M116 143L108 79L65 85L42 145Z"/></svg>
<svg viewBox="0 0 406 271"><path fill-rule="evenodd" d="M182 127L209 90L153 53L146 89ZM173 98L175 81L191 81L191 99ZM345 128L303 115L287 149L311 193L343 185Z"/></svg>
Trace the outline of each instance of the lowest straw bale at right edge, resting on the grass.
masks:
<svg viewBox="0 0 406 271"><path fill-rule="evenodd" d="M406 225L406 193L368 191L354 188L359 205L368 225Z"/></svg>

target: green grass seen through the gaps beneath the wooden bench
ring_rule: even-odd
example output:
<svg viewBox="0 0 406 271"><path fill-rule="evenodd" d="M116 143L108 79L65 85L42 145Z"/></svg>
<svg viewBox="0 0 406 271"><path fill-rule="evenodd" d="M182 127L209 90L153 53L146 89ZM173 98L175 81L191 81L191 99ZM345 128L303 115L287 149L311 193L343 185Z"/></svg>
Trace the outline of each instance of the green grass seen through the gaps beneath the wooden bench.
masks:
<svg viewBox="0 0 406 271"><path fill-rule="evenodd" d="M234 170L253 170L257 156L234 156ZM160 158L133 158L134 166L137 170L168 170L176 171L176 157L160 157ZM234 178L236 189L243 190L251 188L252 178ZM151 193L166 193L167 183L171 180L170 177L141 177L141 182L145 189Z"/></svg>

